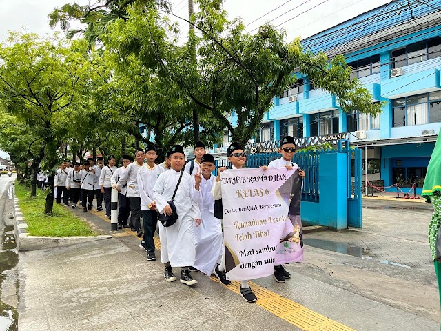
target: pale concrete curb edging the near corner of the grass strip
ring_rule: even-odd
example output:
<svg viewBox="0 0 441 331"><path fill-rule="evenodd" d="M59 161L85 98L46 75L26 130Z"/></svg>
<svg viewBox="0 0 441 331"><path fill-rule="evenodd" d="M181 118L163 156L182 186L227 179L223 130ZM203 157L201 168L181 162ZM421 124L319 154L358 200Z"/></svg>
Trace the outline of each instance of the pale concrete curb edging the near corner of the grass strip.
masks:
<svg viewBox="0 0 441 331"><path fill-rule="evenodd" d="M28 250L42 250L44 248L56 248L74 245L76 243L87 243L103 239L110 239L110 235L96 237L37 237L30 236L27 232L23 214L19 208L19 199L15 196L14 184L12 184L12 197L14 197L14 234L17 242L17 250L24 252Z"/></svg>

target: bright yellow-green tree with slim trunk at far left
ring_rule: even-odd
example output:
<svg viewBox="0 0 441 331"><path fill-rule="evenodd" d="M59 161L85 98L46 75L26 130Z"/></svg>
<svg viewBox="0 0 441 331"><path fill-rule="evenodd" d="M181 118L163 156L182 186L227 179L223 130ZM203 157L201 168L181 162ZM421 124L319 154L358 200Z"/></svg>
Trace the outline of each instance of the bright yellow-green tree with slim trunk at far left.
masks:
<svg viewBox="0 0 441 331"><path fill-rule="evenodd" d="M0 44L0 106L45 143L45 165L50 170L45 214L52 214L57 149L72 116L69 107L86 80L86 57L85 43L67 45L57 37L40 40L36 34L10 32Z"/></svg>

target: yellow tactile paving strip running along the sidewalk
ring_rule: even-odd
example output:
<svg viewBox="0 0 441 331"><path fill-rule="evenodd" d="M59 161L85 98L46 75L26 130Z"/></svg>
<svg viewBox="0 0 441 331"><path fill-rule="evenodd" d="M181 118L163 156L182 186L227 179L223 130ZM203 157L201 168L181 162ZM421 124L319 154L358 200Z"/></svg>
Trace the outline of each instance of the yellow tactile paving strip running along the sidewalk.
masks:
<svg viewBox="0 0 441 331"><path fill-rule="evenodd" d="M91 210L92 214L101 217L108 223L110 220L107 219L100 212L96 212L95 210ZM123 229L124 232L112 234L113 237L125 237L132 235L137 238L136 232L130 231L130 229ZM154 237L154 245L157 250L161 250L161 243L159 238ZM212 281L216 283L220 283L219 280L212 276L209 277ZM338 323L327 317L318 314L308 308L305 308L298 303L291 301L287 298L280 296L275 292L271 292L262 286L253 283L252 281L248 281L249 285L252 287L254 294L256 294L257 302L256 305L259 305L261 308L271 312L280 319L283 319L292 325L296 325L297 328L305 331L356 331L352 328L343 325L342 323ZM233 291L236 294L240 292L240 281L232 281L232 283L225 288Z"/></svg>

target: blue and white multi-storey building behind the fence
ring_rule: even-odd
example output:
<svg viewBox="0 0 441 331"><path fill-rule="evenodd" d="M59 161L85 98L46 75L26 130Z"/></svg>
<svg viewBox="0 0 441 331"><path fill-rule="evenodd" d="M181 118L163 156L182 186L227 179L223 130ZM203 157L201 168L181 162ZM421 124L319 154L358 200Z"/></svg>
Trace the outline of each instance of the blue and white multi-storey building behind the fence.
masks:
<svg viewBox="0 0 441 331"><path fill-rule="evenodd" d="M410 5L394 1L302 40L313 53L344 54L372 102L385 101L382 114L346 114L334 95L296 75L296 84L274 99L256 142L344 133L367 151L374 179L385 186L418 181L420 192L441 128L441 0Z"/></svg>

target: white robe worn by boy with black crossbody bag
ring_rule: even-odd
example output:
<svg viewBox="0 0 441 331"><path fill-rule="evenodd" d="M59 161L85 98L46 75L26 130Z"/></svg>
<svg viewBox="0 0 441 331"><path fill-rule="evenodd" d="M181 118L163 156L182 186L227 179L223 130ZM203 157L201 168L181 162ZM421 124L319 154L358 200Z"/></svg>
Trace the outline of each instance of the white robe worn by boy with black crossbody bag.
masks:
<svg viewBox="0 0 441 331"><path fill-rule="evenodd" d="M165 171L159 175L153 188L153 197L158 211L163 213L167 201L172 199L181 172ZM164 228L159 222L159 239L161 241L161 262L170 262L172 267L189 267L194 265L196 251L194 248L193 219L200 219L198 203L201 201L199 191L194 188L194 177L183 172L174 205L178 220L172 226Z"/></svg>

